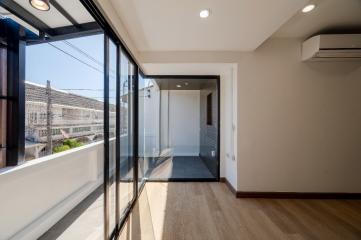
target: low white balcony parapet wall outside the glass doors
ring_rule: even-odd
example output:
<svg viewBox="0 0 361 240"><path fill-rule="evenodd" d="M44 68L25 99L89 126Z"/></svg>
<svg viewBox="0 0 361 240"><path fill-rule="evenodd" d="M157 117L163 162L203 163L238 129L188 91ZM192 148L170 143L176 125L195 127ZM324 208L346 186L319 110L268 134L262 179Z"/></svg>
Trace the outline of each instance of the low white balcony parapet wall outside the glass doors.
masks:
<svg viewBox="0 0 361 240"><path fill-rule="evenodd" d="M102 183L103 151L98 142L1 169L0 239L37 239L65 216Z"/></svg>

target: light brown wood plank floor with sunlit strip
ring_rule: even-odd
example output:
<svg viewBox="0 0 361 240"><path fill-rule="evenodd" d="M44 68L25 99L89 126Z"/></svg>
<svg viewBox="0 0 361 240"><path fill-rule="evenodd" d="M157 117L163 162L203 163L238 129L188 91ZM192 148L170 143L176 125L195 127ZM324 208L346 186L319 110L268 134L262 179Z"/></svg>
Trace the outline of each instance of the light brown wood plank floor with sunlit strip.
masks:
<svg viewBox="0 0 361 240"><path fill-rule="evenodd" d="M147 183L121 240L361 239L361 201L236 199L223 183Z"/></svg>

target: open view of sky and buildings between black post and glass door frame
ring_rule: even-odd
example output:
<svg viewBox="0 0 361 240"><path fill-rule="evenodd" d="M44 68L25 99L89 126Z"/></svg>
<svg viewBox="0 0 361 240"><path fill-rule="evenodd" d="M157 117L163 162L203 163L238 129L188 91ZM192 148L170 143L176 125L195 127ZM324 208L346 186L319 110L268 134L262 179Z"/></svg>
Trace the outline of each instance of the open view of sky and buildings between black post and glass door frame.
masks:
<svg viewBox="0 0 361 240"><path fill-rule="evenodd" d="M103 139L102 55L103 35L26 48L26 160Z"/></svg>

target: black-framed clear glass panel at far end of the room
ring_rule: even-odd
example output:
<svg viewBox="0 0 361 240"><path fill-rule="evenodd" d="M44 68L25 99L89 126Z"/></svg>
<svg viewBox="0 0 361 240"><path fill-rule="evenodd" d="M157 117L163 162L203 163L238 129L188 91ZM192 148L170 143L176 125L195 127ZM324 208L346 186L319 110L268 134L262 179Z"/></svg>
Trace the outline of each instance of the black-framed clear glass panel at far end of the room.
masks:
<svg viewBox="0 0 361 240"><path fill-rule="evenodd" d="M217 180L218 80L139 77L139 163L149 180Z"/></svg>

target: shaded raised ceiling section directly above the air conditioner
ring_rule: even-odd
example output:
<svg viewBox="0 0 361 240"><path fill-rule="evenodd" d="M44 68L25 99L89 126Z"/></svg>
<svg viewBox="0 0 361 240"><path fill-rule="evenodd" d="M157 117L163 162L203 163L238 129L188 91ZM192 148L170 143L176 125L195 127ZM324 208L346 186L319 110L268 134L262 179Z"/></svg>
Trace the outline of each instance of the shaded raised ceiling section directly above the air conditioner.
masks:
<svg viewBox="0 0 361 240"><path fill-rule="evenodd" d="M361 32L361 0L314 0L310 13L298 12L273 37L308 38L318 33Z"/></svg>

